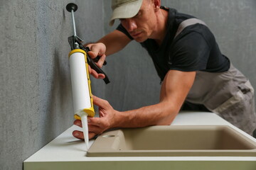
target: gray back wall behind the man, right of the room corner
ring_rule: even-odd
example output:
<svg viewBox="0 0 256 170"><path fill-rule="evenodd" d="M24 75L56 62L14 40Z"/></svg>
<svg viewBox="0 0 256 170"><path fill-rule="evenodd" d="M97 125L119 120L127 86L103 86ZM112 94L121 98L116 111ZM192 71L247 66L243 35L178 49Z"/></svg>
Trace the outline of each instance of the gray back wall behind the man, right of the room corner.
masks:
<svg viewBox="0 0 256 170"><path fill-rule="evenodd" d="M255 0L162 0L163 6L176 8L203 21L215 34L220 49L235 67L247 76L256 88L256 1ZM105 33L110 28L111 3L105 1ZM106 90L106 98L114 108L124 111L159 101L159 78L147 52L137 42L107 58L107 68L113 84Z"/></svg>

